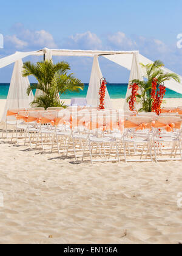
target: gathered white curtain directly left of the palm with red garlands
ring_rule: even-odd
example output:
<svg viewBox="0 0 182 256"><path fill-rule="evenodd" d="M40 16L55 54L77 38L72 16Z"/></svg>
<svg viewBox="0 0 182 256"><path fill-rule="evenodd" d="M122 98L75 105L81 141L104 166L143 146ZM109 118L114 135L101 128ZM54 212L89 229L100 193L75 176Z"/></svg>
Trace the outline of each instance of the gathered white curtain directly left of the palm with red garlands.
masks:
<svg viewBox="0 0 182 256"><path fill-rule="evenodd" d="M138 52L133 52L133 60L132 60L132 68L131 68L131 72L130 72L130 79L129 79L129 85L130 82L134 79L138 79L138 80L143 80L143 76L141 73L141 67L140 67L140 63L139 63L139 54ZM132 89L127 88L127 93L126 93L126 99L124 102L124 110L128 111L129 110L129 104L127 102L127 98L129 98L129 96L132 94ZM136 110L140 109L141 105L137 104L136 105Z"/></svg>

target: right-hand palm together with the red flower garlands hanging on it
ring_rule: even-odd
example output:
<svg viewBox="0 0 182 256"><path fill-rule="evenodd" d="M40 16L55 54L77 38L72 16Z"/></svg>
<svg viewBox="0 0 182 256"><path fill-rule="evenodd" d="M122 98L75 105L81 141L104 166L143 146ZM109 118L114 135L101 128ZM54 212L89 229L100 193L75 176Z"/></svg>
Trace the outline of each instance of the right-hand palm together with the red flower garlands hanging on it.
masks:
<svg viewBox="0 0 182 256"><path fill-rule="evenodd" d="M158 112L157 108L164 103L166 93L164 82L173 79L180 83L180 77L175 73L164 73L163 62L156 60L153 64L143 65L146 80L130 81L132 95L127 98L130 110L135 111L135 104L140 104L138 112ZM156 106L155 106L156 105Z"/></svg>

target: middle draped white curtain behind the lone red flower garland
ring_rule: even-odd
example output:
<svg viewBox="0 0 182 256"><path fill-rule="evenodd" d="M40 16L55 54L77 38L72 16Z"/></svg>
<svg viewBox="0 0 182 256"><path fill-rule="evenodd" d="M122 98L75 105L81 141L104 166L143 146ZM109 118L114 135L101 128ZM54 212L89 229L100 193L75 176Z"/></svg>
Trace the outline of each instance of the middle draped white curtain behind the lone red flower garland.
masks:
<svg viewBox="0 0 182 256"><path fill-rule="evenodd" d="M98 55L93 57L92 73L90 77L89 89L87 92L87 104L98 107L99 106L99 89L101 78L103 74L99 67ZM105 108L112 108L109 93L106 89Z"/></svg>

